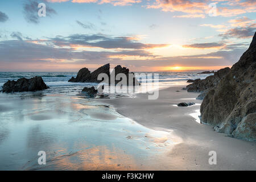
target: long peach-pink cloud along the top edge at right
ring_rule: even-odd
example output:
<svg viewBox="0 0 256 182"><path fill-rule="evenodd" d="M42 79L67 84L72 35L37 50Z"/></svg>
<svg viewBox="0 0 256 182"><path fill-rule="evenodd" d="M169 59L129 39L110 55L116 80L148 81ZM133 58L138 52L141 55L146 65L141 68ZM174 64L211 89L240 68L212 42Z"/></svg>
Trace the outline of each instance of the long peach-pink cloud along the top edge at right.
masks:
<svg viewBox="0 0 256 182"><path fill-rule="evenodd" d="M184 15L175 15L174 17L176 18L205 18L213 10L212 7L209 7L210 3L216 4L217 16L230 17L256 11L256 3L253 0L221 1L155 0L154 3L148 1L145 7L148 9L185 13Z"/></svg>

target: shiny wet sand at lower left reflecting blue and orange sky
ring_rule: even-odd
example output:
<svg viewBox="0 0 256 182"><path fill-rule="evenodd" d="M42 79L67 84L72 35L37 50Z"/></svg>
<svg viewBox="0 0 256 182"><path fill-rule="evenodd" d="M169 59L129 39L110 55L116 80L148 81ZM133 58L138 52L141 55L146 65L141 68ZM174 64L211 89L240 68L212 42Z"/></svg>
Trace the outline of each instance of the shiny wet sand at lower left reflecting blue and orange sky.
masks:
<svg viewBox="0 0 256 182"><path fill-rule="evenodd" d="M4 170L159 169L152 160L180 142L171 131L148 129L81 97L19 98L9 100L8 108L0 113L1 125L8 121L8 133L0 135ZM46 151L45 166L38 164L39 151Z"/></svg>

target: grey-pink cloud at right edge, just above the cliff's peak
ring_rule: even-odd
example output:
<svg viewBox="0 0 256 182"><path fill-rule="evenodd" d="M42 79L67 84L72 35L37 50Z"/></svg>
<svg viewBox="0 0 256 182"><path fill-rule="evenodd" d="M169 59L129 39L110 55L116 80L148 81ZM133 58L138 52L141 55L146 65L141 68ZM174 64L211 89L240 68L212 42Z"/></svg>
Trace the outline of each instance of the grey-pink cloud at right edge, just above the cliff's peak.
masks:
<svg viewBox="0 0 256 182"><path fill-rule="evenodd" d="M256 31L256 23L251 24L248 27L238 27L231 28L228 31L224 32L224 34L219 34L222 38L238 38L238 39L247 39L254 35Z"/></svg>

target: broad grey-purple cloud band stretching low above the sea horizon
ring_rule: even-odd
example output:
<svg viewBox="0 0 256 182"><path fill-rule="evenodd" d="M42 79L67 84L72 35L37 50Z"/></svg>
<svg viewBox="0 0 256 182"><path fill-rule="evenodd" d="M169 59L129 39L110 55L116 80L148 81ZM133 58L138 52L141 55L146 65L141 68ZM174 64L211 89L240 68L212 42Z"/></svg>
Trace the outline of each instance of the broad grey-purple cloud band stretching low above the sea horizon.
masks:
<svg viewBox="0 0 256 182"><path fill-rule="evenodd" d="M71 35L57 36L46 40L21 40L20 33L13 36L17 40L0 42L0 69L30 69L30 70L78 70L86 67L96 68L98 65L112 63L142 70L145 65L153 67L168 67L180 65L186 67L226 66L236 63L248 46L247 43L229 44L217 52L192 56L160 56L153 55L147 50L148 44L143 44L130 37L111 37L106 35ZM108 40L110 46L102 46L101 41ZM97 43L106 49L91 51L92 49L77 50L74 46ZM135 43L135 44L134 44ZM139 44L138 44L139 43ZM114 44L116 44L114 46ZM63 47L61 47L61 45ZM69 46L67 46L69 45ZM104 44L105 45L105 44ZM155 47L158 44L150 44ZM221 43L191 44L191 47L214 47ZM112 49L115 47L115 49ZM126 49L129 47L129 49ZM149 46L150 47L150 46ZM133 48L133 49L130 49Z"/></svg>

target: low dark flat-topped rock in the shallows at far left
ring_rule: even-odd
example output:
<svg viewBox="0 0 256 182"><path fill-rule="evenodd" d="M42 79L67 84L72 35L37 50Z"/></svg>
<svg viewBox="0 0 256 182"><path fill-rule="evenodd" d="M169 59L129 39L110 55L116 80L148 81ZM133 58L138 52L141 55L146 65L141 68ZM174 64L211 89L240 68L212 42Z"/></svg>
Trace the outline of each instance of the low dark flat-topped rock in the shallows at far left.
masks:
<svg viewBox="0 0 256 182"><path fill-rule="evenodd" d="M33 92L48 88L42 77L36 76L30 79L19 78L17 81L9 80L3 85L3 92Z"/></svg>

